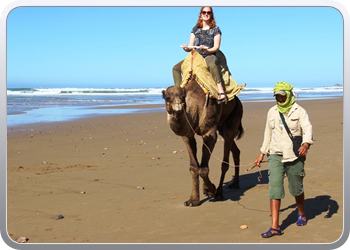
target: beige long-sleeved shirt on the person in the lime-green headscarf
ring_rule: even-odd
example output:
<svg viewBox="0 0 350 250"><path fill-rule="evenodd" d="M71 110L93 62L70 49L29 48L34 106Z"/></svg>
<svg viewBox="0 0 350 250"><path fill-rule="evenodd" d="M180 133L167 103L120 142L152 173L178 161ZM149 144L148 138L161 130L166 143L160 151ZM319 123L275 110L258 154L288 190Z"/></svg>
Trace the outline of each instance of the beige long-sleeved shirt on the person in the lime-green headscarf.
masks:
<svg viewBox="0 0 350 250"><path fill-rule="evenodd" d="M285 115L286 123L293 136L302 136L303 142L310 145L312 141L312 125L306 110L297 103ZM264 154L282 155L282 162L291 162L297 159L293 152L293 143L284 128L277 105L267 113L264 141L260 148Z"/></svg>

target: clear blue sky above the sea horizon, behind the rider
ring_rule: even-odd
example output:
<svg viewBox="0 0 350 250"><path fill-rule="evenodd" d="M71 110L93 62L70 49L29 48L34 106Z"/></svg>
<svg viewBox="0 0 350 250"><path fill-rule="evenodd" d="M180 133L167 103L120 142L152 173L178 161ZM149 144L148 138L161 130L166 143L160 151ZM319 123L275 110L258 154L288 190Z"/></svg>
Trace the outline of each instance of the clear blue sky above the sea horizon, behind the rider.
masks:
<svg viewBox="0 0 350 250"><path fill-rule="evenodd" d="M167 87L200 7L19 7L7 18L7 87ZM343 84L332 7L214 7L221 50L247 87Z"/></svg>

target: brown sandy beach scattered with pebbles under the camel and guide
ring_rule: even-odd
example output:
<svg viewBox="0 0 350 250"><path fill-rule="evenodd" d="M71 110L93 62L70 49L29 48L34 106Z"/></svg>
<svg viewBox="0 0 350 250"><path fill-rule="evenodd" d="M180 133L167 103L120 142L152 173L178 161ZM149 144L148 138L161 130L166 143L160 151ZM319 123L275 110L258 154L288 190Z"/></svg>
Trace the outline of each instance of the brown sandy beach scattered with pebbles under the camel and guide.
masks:
<svg viewBox="0 0 350 250"><path fill-rule="evenodd" d="M189 158L182 139L167 125L165 108L8 128L9 237L26 237L28 243L337 241L344 226L343 99L297 102L309 114L315 139L305 165L305 227L295 225L297 211L286 180L280 214L284 235L260 236L271 225L267 163L260 182L258 168L245 170L259 155L274 102L243 102L245 135L237 141L241 188L224 188L224 200L217 202L201 194L198 207L183 205L191 192ZM219 137L213 154L221 158L222 151ZM220 168L212 157L209 175L216 186ZM233 174L230 168L225 186Z"/></svg>

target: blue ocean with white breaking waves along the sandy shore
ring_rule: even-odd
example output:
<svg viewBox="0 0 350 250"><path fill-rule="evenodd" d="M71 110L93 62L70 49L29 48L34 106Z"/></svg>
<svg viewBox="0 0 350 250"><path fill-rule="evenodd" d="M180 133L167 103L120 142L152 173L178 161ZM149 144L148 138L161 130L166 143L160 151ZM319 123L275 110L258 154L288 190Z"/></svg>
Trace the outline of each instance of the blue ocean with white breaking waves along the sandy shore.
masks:
<svg viewBox="0 0 350 250"><path fill-rule="evenodd" d="M60 122L87 116L148 112L126 105L163 104L165 88L8 88L7 127L31 123ZM294 88L303 100L343 96L343 86ZM248 88L239 98L244 102L274 102L272 88ZM118 109L94 109L120 106ZM165 108L156 108L164 111ZM154 110L154 109L152 109Z"/></svg>

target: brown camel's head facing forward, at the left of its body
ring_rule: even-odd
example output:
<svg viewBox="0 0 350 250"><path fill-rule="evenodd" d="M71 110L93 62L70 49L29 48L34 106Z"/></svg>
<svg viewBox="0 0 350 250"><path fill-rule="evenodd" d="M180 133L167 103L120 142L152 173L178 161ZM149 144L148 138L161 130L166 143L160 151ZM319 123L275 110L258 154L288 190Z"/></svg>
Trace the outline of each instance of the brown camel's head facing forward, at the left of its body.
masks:
<svg viewBox="0 0 350 250"><path fill-rule="evenodd" d="M163 98L165 99L166 111L168 114L181 112L185 104L185 97L185 89L176 85L163 90Z"/></svg>

